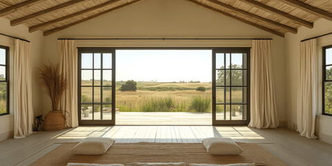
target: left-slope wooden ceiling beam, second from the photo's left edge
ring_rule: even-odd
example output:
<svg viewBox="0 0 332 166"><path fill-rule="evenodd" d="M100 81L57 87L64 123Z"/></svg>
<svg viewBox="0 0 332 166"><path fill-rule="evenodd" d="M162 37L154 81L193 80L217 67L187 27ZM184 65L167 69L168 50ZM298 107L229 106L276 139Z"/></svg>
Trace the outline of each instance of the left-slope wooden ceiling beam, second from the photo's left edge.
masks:
<svg viewBox="0 0 332 166"><path fill-rule="evenodd" d="M48 8L46 10L35 12L35 13L31 14L31 15L27 15L27 16L21 17L19 19L15 19L13 21L10 21L10 25L11 26L17 26L17 25L22 24L22 23L24 23L26 21L29 21L31 19L35 19L36 17L41 17L42 15L46 15L46 14L48 14L50 12L55 12L57 10L61 10L61 9L67 8L68 6L75 5L75 4L80 3L82 1L86 1L86 0L68 1L66 3L59 4L58 6L53 6L52 8Z"/></svg>

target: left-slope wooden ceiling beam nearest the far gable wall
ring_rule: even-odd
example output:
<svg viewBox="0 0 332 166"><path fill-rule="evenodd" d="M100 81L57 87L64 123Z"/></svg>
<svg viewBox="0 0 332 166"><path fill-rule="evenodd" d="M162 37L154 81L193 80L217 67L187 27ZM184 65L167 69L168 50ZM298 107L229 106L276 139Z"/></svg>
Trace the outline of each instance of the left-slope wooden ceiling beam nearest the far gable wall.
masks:
<svg viewBox="0 0 332 166"><path fill-rule="evenodd" d="M44 36L50 35L50 34L52 34L52 33L57 33L57 32L59 32L60 30L64 30L64 29L69 28L69 27L71 27L71 26L75 26L75 25L77 25L77 24L80 24L80 23L82 23L82 22L84 22L84 21L88 21L88 20L90 20L90 19L94 19L95 17L99 17L99 16L101 16L101 15L105 15L105 14L107 14L108 12L112 12L112 11L114 11L114 10L118 10L118 9L120 9L120 8L124 8L125 6L129 6L129 5L131 5L131 4L133 4L133 3L136 3L136 2L138 2L138 1L141 1L141 0L133 0L133 1L130 1L130 2L128 2L128 3L124 3L124 4L120 5L120 6L117 6L117 7L115 7L115 8L111 8L111 9L109 9L109 10L105 10L104 12L100 12L100 13L98 13L97 15L93 15L93 16L91 16L91 17L86 17L86 18L81 19L81 20L79 20L79 21L75 21L75 22L73 22L73 23L71 23L71 24L67 24L66 26L61 26L61 27L54 28L54 29L51 29L51 30L46 30L46 31L44 32Z"/></svg>

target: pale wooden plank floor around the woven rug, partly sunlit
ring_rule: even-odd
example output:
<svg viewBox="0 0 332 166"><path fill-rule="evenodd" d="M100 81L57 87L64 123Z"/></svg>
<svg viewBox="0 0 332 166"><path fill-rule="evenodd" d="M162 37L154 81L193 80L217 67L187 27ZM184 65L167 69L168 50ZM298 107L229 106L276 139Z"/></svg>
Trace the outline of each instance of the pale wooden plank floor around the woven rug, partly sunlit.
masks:
<svg viewBox="0 0 332 166"><path fill-rule="evenodd" d="M39 131L22 139L0 143L0 165L28 165L64 142L86 137L114 138L116 142L198 143L204 138L228 137L237 142L259 143L288 165L331 165L332 145L302 138L295 131L213 126L111 126Z"/></svg>

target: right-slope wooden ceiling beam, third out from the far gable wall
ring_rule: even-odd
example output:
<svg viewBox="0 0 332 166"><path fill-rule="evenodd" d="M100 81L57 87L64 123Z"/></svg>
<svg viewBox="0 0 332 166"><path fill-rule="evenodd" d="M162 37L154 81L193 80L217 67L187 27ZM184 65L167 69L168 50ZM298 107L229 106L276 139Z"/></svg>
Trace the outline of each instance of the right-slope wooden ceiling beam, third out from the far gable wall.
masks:
<svg viewBox="0 0 332 166"><path fill-rule="evenodd" d="M300 19L299 17L295 17L293 15L289 15L287 12L283 12L281 10L277 10L276 8L272 8L270 6L267 6L264 3L260 3L259 1L255 0L240 0L244 3L248 3L250 6L255 6L256 8L259 8L261 10L264 10L266 12L270 12L272 14L278 15L279 17L283 17L284 19L288 19L289 21L293 21L296 24L306 26L308 28L313 28L313 23L306 21L304 19Z"/></svg>

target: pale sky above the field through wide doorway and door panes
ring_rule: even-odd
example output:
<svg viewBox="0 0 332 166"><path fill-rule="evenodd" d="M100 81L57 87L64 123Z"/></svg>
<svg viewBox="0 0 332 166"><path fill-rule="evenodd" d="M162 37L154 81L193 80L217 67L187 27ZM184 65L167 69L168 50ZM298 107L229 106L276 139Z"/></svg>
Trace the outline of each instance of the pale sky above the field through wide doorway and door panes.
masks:
<svg viewBox="0 0 332 166"><path fill-rule="evenodd" d="M224 65L223 54L216 55L216 68ZM226 66L230 65L229 55ZM94 67L100 68L100 54L94 55ZM111 54L104 54L103 67L111 68ZM232 64L242 64L242 55L232 55ZM82 54L82 68L92 68L91 53ZM95 71L95 79L100 73ZM82 80L91 80L92 71L82 71ZM104 80L111 73L104 71ZM212 50L116 50L116 81L211 82Z"/></svg>

